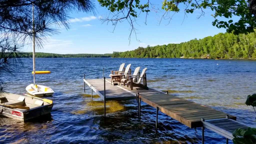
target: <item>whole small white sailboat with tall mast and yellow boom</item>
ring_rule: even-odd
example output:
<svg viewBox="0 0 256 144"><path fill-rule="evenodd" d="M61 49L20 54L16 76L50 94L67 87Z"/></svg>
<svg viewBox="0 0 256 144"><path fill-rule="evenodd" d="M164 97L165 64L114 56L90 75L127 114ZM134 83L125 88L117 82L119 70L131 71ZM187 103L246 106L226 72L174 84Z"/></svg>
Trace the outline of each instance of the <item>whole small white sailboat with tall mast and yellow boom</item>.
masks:
<svg viewBox="0 0 256 144"><path fill-rule="evenodd" d="M34 84L30 84L26 87L26 90L29 94L42 97L42 96L51 96L54 91L42 85L36 85L35 83L35 74L49 74L50 71L36 71L36 54L35 54L35 24L34 24L34 4L32 4L32 11L33 11L33 71L32 74L34 75Z"/></svg>

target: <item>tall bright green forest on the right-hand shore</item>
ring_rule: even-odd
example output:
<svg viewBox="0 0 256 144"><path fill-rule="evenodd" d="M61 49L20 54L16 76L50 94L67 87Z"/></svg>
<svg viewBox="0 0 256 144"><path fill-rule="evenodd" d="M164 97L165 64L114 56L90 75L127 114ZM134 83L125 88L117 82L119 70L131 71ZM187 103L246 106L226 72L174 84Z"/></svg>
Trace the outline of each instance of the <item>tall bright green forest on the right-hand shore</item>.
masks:
<svg viewBox="0 0 256 144"><path fill-rule="evenodd" d="M138 47L126 52L113 52L112 57L122 58L256 58L256 33L233 35L219 33L203 39L180 44Z"/></svg>

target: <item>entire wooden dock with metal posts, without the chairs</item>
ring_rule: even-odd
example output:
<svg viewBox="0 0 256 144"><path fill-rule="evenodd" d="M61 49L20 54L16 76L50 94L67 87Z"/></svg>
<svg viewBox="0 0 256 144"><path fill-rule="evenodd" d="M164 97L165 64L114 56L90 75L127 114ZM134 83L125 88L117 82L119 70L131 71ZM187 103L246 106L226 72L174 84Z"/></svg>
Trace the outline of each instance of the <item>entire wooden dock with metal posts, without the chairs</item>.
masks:
<svg viewBox="0 0 256 144"><path fill-rule="evenodd" d="M104 74L103 74L104 75ZM111 85L111 79L85 79L84 90L87 84L91 91L96 92L104 100L104 116L106 116L105 104L108 100L138 99L138 117L141 116L141 101L156 108L156 130L158 111L181 122L189 128L202 128L202 143L204 143L204 129L208 128L228 139L233 139L232 131L248 126L236 121L236 117L213 108L197 104L195 102L169 95L168 92L158 91L152 88L148 90L134 87L131 90L123 85ZM92 95L92 94L91 94ZM217 125L214 125L217 124Z"/></svg>

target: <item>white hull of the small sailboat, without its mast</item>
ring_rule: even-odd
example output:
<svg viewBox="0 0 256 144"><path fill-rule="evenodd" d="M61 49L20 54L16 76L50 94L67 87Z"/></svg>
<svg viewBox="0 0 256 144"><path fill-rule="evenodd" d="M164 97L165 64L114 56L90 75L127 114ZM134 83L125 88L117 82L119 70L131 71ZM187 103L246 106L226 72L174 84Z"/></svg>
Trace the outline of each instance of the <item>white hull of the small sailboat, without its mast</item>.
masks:
<svg viewBox="0 0 256 144"><path fill-rule="evenodd" d="M36 97L51 96L54 94L54 91L51 88L42 85L37 85L36 88L34 84L30 84L26 87L26 90L30 95Z"/></svg>

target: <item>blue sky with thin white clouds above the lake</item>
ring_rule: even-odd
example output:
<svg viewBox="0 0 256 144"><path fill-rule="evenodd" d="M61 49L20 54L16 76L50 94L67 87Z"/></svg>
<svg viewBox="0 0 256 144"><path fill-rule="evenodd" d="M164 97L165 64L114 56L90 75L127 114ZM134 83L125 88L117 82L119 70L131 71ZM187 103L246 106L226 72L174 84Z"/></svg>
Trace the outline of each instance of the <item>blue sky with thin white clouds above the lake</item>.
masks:
<svg viewBox="0 0 256 144"><path fill-rule="evenodd" d="M161 1L158 1L161 7ZM166 25L169 20L163 20L158 26L156 19L159 16L155 12L150 12L147 16L147 25L145 22L145 13L142 13L138 18L135 28L137 30L136 41L134 34L131 35L131 44L129 45L130 26L127 22L119 23L114 33L112 24L102 24L99 20L100 16L104 16L109 11L100 7L97 1L96 15L87 13L71 13L70 29L60 29L59 35L54 35L49 38L43 49L36 49L36 52L57 53L57 54L105 54L113 51L127 51L138 48L139 46L146 47L147 45L163 45L169 43L187 42L194 38L204 38L214 36L220 32L226 32L225 29L218 29L212 26L214 18L210 9L205 10L205 16L197 19L200 11L195 11L193 14L187 14L184 22L184 11L176 13L169 25ZM182 7L181 7L182 8ZM183 24L182 24L183 22ZM31 45L23 49L24 52L32 52Z"/></svg>

